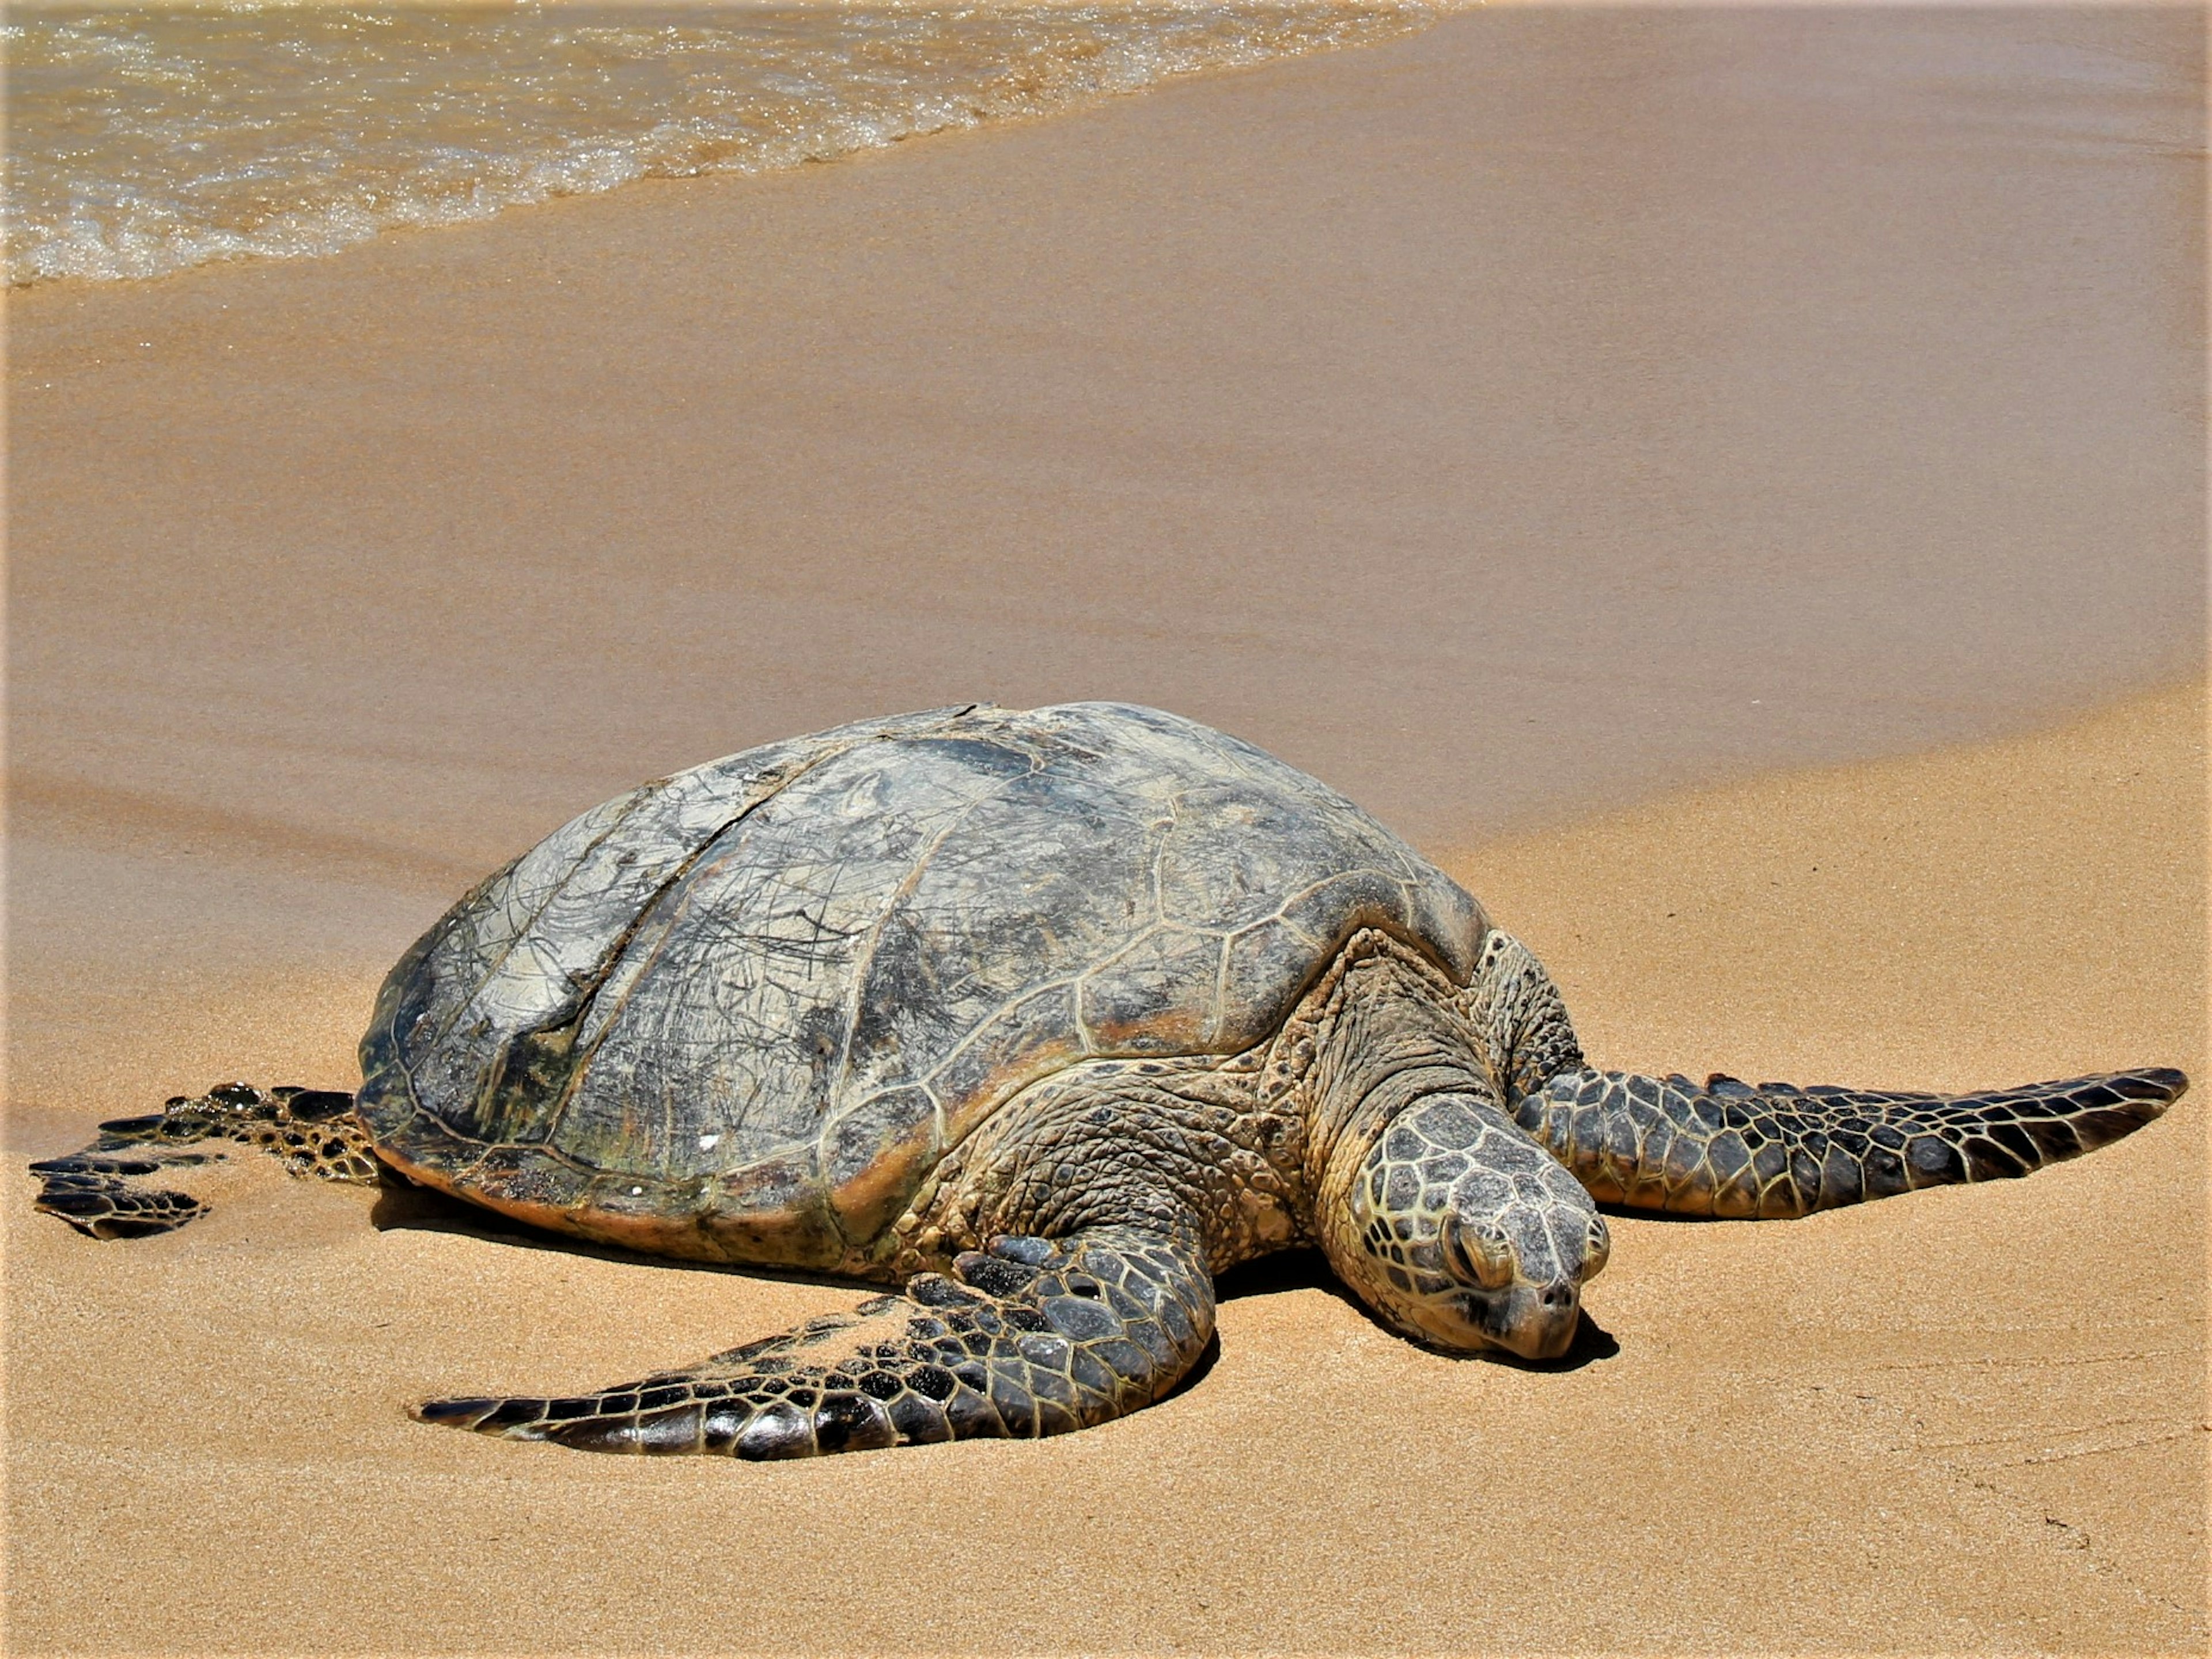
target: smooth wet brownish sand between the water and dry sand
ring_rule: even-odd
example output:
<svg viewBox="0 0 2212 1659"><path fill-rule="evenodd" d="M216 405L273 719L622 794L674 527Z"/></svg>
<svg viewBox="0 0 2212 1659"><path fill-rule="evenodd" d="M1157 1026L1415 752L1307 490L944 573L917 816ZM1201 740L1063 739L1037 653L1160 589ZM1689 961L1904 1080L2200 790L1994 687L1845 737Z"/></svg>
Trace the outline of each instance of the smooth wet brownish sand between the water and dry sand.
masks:
<svg viewBox="0 0 2212 1659"><path fill-rule="evenodd" d="M1469 838L2185 677L2179 175L2106 146L2086 199L2031 133L1944 184L1940 100L1818 102L1854 49L1909 75L2002 24L1458 15L834 168L27 290L18 684L126 732L159 666L296 754L442 741L334 792L33 712L15 765L179 810L212 772L290 792L288 834L482 863L635 772L1106 695ZM2059 33L2101 27L2170 20ZM1787 144L1778 91L1814 100ZM232 641L265 692L217 684Z"/></svg>

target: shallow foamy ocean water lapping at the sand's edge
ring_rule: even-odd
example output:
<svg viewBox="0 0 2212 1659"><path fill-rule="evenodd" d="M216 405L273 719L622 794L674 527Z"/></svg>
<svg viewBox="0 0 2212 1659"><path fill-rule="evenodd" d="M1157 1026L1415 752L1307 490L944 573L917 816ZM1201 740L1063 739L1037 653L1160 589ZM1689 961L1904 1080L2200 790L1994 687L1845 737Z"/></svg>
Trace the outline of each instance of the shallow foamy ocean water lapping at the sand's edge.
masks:
<svg viewBox="0 0 2212 1659"><path fill-rule="evenodd" d="M630 179L757 173L1172 75L1356 46L1420 4L13 7L11 285L310 257Z"/></svg>

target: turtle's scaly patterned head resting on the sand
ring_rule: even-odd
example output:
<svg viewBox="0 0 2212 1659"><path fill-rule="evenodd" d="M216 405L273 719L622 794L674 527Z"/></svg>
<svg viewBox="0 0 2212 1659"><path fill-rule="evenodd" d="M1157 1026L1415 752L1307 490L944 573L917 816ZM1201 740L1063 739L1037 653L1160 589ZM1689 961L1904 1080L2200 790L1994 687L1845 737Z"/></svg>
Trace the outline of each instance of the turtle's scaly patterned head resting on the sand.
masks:
<svg viewBox="0 0 2212 1659"><path fill-rule="evenodd" d="M1385 1321L1462 1354L1566 1354L1582 1285L1606 1265L1606 1219L1502 1113L1431 1095L1329 1175L1329 1265Z"/></svg>

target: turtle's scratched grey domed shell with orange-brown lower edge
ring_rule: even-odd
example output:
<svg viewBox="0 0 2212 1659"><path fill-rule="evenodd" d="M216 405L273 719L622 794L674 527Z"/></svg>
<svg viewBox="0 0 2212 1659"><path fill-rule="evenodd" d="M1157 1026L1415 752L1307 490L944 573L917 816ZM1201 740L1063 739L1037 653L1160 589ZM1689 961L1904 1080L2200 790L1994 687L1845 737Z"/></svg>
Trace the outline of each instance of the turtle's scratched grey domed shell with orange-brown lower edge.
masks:
<svg viewBox="0 0 2212 1659"><path fill-rule="evenodd" d="M646 783L385 980L361 1115L416 1179L661 1254L834 1267L1002 1102L1232 1055L1360 927L1486 922L1327 785L1150 708L947 708Z"/></svg>

